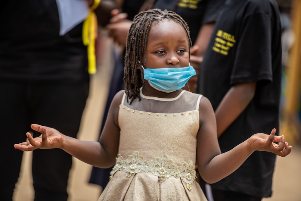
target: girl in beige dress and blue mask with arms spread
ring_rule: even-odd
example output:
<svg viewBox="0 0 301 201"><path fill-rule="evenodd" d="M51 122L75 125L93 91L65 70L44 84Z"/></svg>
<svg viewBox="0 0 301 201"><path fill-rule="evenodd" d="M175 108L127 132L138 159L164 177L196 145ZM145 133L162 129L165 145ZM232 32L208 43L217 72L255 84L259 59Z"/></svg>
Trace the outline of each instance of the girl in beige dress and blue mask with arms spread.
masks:
<svg viewBox="0 0 301 201"><path fill-rule="evenodd" d="M42 135L26 133L29 141L14 147L60 148L97 167L115 164L99 200L206 200L194 181L196 164L203 179L214 183L256 150L288 155L291 146L275 129L221 154L209 100L182 90L195 74L190 48L187 24L178 14L159 9L137 14L127 38L126 90L114 97L99 142L32 124Z"/></svg>

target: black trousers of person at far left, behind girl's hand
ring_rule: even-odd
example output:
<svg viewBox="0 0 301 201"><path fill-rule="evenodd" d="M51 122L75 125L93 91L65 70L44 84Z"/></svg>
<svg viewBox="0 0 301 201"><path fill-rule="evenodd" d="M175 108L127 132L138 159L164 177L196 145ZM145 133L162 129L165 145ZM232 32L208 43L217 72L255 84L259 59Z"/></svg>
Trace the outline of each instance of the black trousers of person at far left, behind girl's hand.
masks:
<svg viewBox="0 0 301 201"><path fill-rule="evenodd" d="M53 127L76 137L89 92L89 80L80 83L27 83L0 81L0 128L2 146L3 200L12 200L19 177L23 152L15 143L26 140L33 132L30 124ZM40 133L33 132L34 137ZM35 201L66 201L67 181L72 157L61 149L33 151L32 173Z"/></svg>

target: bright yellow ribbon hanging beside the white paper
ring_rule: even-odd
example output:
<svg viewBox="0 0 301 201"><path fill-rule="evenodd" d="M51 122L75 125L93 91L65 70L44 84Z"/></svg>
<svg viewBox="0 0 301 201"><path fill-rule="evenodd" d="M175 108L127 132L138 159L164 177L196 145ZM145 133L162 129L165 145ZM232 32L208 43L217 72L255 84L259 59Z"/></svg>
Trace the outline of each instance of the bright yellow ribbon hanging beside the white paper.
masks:
<svg viewBox="0 0 301 201"><path fill-rule="evenodd" d="M96 73L96 56L95 56L95 39L97 38L97 18L95 8L98 7L100 0L94 0L93 5L89 8L89 15L82 25L82 42L88 46L88 72Z"/></svg>

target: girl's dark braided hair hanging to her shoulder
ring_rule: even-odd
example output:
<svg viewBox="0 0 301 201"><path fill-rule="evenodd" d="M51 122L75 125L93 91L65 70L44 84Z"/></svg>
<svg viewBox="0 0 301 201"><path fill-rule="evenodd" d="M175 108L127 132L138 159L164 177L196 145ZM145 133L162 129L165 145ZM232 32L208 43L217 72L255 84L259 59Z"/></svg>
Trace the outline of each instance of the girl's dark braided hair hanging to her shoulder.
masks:
<svg viewBox="0 0 301 201"><path fill-rule="evenodd" d="M140 12L134 17L132 25L129 29L127 42L126 42L126 55L125 55L125 68L124 68L124 82L127 95L127 101L131 99L130 104L134 99L141 100L139 89L144 84L143 71L137 69L141 64L146 63L146 43L151 25L162 20L173 20L182 25L184 28L190 48L192 46L189 28L183 18L173 11L151 9L148 11ZM142 62L142 58L144 61Z"/></svg>

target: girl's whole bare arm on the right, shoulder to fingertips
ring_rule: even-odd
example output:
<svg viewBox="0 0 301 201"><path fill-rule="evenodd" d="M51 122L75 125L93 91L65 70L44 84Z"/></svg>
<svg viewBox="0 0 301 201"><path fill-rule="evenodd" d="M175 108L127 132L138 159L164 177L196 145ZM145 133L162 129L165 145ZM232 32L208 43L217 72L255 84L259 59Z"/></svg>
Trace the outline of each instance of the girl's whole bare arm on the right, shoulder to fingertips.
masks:
<svg viewBox="0 0 301 201"><path fill-rule="evenodd" d="M215 183L234 172L256 150L288 155L291 146L284 136L256 133L228 152L221 153L216 135L216 119L211 103L206 97L200 101L200 128L197 134L197 166L207 183ZM231 139L230 139L231 140ZM276 144L279 142L279 145Z"/></svg>

